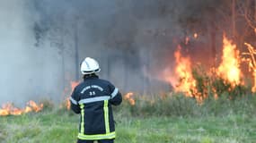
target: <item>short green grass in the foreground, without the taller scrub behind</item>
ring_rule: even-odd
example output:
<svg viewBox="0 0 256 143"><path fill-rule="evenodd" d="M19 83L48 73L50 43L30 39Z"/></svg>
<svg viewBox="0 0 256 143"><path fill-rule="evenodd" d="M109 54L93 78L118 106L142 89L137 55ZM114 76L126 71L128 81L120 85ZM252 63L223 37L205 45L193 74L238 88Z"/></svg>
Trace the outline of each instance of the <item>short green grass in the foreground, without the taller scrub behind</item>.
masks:
<svg viewBox="0 0 256 143"><path fill-rule="evenodd" d="M122 106L121 106L122 107ZM256 116L128 116L118 112L117 143L255 142ZM75 143L79 115L65 110L0 117L0 142Z"/></svg>

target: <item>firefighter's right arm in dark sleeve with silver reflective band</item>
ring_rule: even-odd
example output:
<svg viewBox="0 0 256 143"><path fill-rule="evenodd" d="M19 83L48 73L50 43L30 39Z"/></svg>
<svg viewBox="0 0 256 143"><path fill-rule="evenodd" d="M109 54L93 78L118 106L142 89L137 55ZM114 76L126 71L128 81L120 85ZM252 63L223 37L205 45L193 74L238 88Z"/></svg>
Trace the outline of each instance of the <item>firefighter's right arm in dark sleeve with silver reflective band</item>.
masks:
<svg viewBox="0 0 256 143"><path fill-rule="evenodd" d="M120 105L122 102L122 95L119 92L119 88L115 88L114 86L110 87L111 95L110 95L110 104L111 105Z"/></svg>

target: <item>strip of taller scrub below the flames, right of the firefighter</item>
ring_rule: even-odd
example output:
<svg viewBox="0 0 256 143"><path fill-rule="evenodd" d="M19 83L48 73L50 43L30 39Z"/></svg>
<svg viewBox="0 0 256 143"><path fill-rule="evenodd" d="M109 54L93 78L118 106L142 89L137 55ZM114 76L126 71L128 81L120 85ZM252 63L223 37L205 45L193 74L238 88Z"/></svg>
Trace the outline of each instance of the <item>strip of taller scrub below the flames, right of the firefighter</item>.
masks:
<svg viewBox="0 0 256 143"><path fill-rule="evenodd" d="M230 99L228 92L222 93L217 99L207 97L199 103L193 97L182 93L166 94L166 96L136 96L136 104L130 105L124 100L115 108L121 116L225 116L226 114L255 114L256 96L244 95Z"/></svg>

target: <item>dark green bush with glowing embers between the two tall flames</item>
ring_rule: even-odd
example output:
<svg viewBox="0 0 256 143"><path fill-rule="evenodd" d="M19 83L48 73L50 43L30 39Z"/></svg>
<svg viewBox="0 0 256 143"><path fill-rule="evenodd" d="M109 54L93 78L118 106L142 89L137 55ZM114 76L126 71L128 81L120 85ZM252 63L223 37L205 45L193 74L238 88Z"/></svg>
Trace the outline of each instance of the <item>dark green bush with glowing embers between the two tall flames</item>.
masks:
<svg viewBox="0 0 256 143"><path fill-rule="evenodd" d="M199 101L207 97L217 99L223 95L229 99L252 95L250 86L246 87L243 84L233 84L215 73L207 74L200 67L193 69L192 75L196 80L196 89L194 90L197 91L192 92L192 95L200 99Z"/></svg>

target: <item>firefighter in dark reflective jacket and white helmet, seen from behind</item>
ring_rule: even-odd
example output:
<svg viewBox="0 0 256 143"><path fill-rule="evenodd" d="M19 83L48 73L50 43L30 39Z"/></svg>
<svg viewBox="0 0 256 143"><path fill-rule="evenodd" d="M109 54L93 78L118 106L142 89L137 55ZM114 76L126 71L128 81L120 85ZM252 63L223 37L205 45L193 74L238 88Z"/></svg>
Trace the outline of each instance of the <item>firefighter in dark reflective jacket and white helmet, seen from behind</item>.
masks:
<svg viewBox="0 0 256 143"><path fill-rule="evenodd" d="M99 63L86 57L80 64L84 81L75 87L71 109L80 114L77 143L113 143L116 137L111 105L120 105L122 97L110 81L99 79Z"/></svg>

